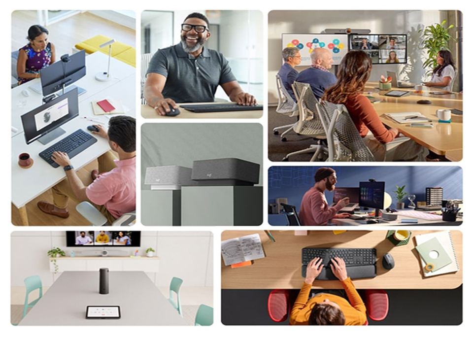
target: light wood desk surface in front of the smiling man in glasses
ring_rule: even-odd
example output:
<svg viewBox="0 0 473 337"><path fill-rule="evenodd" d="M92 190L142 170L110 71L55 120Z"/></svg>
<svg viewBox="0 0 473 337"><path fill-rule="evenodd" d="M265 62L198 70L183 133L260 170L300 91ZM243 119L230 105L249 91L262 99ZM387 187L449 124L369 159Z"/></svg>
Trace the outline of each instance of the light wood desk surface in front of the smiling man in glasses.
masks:
<svg viewBox="0 0 473 337"><path fill-rule="evenodd" d="M228 102L231 104L232 102ZM210 104L210 103L182 103L186 104ZM223 102L215 102L215 104L223 104ZM180 104L177 104L180 106ZM174 118L260 118L263 116L264 110L249 110L249 111L225 111L225 112L192 112L184 108L179 107L181 112L177 116L160 116L156 113L155 109L147 104L141 105L141 116L144 118L167 118L172 120Z"/></svg>

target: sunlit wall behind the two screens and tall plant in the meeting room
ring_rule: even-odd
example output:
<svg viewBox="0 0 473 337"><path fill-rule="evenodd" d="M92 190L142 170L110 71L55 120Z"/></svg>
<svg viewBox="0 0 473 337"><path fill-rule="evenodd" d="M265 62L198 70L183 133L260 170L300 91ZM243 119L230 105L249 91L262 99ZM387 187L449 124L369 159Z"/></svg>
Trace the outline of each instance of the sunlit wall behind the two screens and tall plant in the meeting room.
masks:
<svg viewBox="0 0 473 337"><path fill-rule="evenodd" d="M268 16L268 101L277 103L275 76L282 65L281 34L320 33L327 28L370 29L372 34L407 34L405 65L373 65L370 81L378 81L386 71L398 71L400 79L419 83L425 71L422 68L422 50L419 49L418 31L446 19L439 10L390 11L271 11ZM298 67L298 71L305 67Z"/></svg>

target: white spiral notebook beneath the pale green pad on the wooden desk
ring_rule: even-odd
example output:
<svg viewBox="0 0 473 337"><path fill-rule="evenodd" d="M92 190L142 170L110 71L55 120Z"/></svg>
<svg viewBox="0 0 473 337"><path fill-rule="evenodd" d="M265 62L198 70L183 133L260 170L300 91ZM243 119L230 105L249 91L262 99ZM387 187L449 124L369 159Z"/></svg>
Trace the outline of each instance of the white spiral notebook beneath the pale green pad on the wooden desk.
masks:
<svg viewBox="0 0 473 337"><path fill-rule="evenodd" d="M452 236L450 234L450 231L419 234L419 235L414 236L414 238L415 238L415 243L417 245L421 245L422 243L427 242L433 238L437 238L439 240L439 243L445 250L446 254L448 255L448 257L453 261L452 263L446 265L443 268L440 268L434 271L427 271L424 269L426 263L422 259L420 259L421 264L422 264L422 272L425 277L441 275L441 274L446 274L449 272L456 272L460 270L460 267L458 266L457 255L455 253L455 247L453 246L453 241L452 241Z"/></svg>

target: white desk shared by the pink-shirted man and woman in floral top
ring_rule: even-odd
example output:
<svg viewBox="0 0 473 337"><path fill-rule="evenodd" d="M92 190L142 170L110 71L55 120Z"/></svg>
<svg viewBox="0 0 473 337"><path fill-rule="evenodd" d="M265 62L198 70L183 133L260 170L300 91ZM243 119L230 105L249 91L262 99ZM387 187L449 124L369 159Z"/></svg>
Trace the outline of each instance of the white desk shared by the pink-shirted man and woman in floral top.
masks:
<svg viewBox="0 0 473 337"><path fill-rule="evenodd" d="M39 157L39 152L67 137L77 129L88 132L88 125L98 124L97 122L87 121L84 117L100 120L101 124L107 127L109 117L113 116L113 114L95 116L92 111L91 101L100 101L106 98L120 99L125 113L135 116L135 67L112 58L110 66L112 79L107 82L99 82L95 80L95 74L103 70L103 67L106 67L107 58L101 52L96 52L86 57L87 75L75 83L87 90L86 93L79 96L79 116L61 126L66 133L46 145L38 141L27 145L21 125L21 115L39 106L42 99L41 95L30 90L27 104L19 107L16 105L16 101L20 98L19 95L23 96L21 94L23 88L19 86L12 89L12 126L19 131L16 134L12 133L11 138L11 200L13 205L19 209L24 226L29 225L26 204L66 177L63 169L50 166ZM28 86L28 84L25 85ZM72 166L75 169L83 168L110 149L105 139L98 136L95 137L98 140L95 144L71 159ZM23 169L18 165L18 156L23 152L29 153L34 160L34 165L29 169Z"/></svg>

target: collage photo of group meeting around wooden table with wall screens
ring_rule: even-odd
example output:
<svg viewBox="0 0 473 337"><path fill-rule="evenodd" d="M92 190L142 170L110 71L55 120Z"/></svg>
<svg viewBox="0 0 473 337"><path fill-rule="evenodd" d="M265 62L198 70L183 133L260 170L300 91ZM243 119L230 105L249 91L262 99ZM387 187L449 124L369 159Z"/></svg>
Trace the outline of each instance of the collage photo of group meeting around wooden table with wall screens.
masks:
<svg viewBox="0 0 473 337"><path fill-rule="evenodd" d="M460 161L462 20L455 10L270 11L270 161Z"/></svg>

